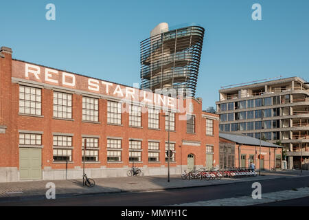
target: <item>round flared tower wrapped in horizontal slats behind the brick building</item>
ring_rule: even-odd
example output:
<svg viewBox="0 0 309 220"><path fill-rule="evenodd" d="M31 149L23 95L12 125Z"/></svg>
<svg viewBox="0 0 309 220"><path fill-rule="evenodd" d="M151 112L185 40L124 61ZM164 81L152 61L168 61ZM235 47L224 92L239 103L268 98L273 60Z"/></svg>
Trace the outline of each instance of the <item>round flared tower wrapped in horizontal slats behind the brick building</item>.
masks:
<svg viewBox="0 0 309 220"><path fill-rule="evenodd" d="M157 25L150 38L141 41L141 89L195 96L204 32L196 24Z"/></svg>

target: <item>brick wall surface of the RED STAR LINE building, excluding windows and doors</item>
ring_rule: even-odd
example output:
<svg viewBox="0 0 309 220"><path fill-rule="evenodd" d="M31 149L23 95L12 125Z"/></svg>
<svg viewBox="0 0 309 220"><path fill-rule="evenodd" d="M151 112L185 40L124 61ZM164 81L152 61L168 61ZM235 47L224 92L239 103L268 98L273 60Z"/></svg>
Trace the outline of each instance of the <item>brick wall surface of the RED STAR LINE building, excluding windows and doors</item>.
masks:
<svg viewBox="0 0 309 220"><path fill-rule="evenodd" d="M141 104L141 127L129 126L129 113L122 113L121 124L107 123L107 102L115 100L123 102L122 108L128 108L132 102L124 100L115 95L108 94L106 87L102 84L90 85L89 78L78 74L70 73L76 77L76 85L67 87L63 85L64 78L60 77L63 73L54 69L57 74L49 75L49 81L58 81L58 83L47 83L47 76L44 76L45 69L41 65L35 65L41 68L39 73L40 80L35 74L27 73L26 64L23 61L12 59L12 52L9 48L1 47L0 57L0 151L5 152L0 157L0 174L6 175L0 178L0 181L19 181L19 148L24 147L19 144L19 133L21 131L32 131L42 133L42 179L64 179L80 178L82 172L82 136L99 137L98 146L99 162L87 162L85 168L91 177L107 177L125 175L126 170L133 166L129 162L128 146L130 139L141 140L141 162L135 162L135 166L143 168L145 175L165 174L167 162L165 162L165 142L168 141L168 131L165 130L165 117L162 117L163 109L172 109L177 111L175 114L175 131L170 131L170 142L175 143L175 162L170 163L171 173L181 173L187 166L187 155L194 155L194 166L205 166L206 164L206 145L214 146L213 166L218 166L219 162L219 137L218 137L218 115L205 113L202 111L202 100L187 98L185 100L170 100L166 98L165 106L162 104L159 113L159 129L148 129L148 111L149 104L141 102L141 97L137 97L135 103ZM34 65L34 64L30 64ZM31 69L30 71L33 71ZM28 77L25 77L27 76ZM59 75L59 78L57 76ZM44 80L45 79L45 80ZM93 79L93 78L90 78ZM65 79L68 83L73 83L70 78ZM94 79L97 83L96 79ZM61 84L62 83L62 84ZM100 82L99 82L100 83ZM41 115L25 115L19 111L19 87L36 87L41 89ZM73 85L73 84L72 84ZM117 84L111 85L108 89L115 91ZM123 85L119 87L124 88ZM88 88L88 89L87 89ZM100 89L100 92L93 89ZM128 89L128 87L126 87ZM133 89L133 88L129 88ZM138 90L138 89L135 89ZM63 91L72 94L72 119L65 120L53 117L53 95L54 91ZM150 92L148 92L150 94ZM84 122L82 120L82 97L89 96L99 99L99 120L98 122ZM144 95L145 96L145 95ZM157 97L159 100L159 97ZM144 97L145 99L145 97ZM158 101L159 102L159 101ZM179 105L172 103L183 102L185 111L179 111ZM190 114L195 115L195 133L187 133L187 121L179 120L179 117L187 115L187 109L193 109ZM153 104L153 103L152 103ZM152 105L150 104L150 106ZM169 106L170 104L170 106ZM155 105L155 104L153 104ZM213 135L206 135L206 118L213 120ZM53 133L69 133L72 135L72 160L71 162L53 162ZM122 161L107 162L107 137L122 138ZM148 162L148 140L159 141L159 162ZM32 147L32 146L30 146ZM157 168L157 169L156 169ZM55 171L61 174L56 174ZM69 170L69 177L65 172ZM113 170L113 171L111 171ZM2 172L2 173L1 173ZM3 173L4 172L4 173ZM74 173L75 172L75 173Z"/></svg>

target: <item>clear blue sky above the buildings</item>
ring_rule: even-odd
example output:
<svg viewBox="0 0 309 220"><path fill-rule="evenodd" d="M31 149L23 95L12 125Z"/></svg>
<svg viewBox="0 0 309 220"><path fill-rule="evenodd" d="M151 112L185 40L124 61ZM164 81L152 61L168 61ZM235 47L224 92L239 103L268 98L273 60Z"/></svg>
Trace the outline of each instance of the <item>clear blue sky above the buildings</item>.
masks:
<svg viewBox="0 0 309 220"><path fill-rule="evenodd" d="M56 5L56 21L45 5ZM262 21L251 19L253 3ZM158 23L206 30L196 96L215 107L221 86L276 76L309 80L308 0L1 1L0 46L13 58L133 86L139 42Z"/></svg>

